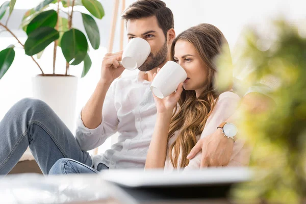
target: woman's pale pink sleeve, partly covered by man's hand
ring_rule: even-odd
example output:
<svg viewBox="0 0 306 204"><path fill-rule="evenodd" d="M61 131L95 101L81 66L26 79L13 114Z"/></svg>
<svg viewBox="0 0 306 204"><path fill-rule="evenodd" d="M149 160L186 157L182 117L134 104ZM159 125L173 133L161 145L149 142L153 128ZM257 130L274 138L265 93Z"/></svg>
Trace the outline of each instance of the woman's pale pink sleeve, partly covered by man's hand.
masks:
<svg viewBox="0 0 306 204"><path fill-rule="evenodd" d="M224 92L220 94L219 99L216 102L215 108L208 118L205 128L200 136L200 138L207 137L208 135L214 133L217 127L230 118L236 109L238 108L240 97L233 92ZM234 146L236 142L234 143ZM201 154L202 151L190 160L188 166L184 170L199 169L201 164Z"/></svg>

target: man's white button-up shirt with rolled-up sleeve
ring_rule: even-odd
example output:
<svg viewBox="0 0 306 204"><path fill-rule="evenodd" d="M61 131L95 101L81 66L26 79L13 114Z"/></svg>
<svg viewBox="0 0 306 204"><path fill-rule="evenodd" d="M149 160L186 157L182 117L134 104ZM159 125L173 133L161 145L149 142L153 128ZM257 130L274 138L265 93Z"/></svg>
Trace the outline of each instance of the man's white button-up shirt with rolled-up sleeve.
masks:
<svg viewBox="0 0 306 204"><path fill-rule="evenodd" d="M102 122L96 129L84 126L81 114L77 122L76 139L82 150L94 149L118 132L118 142L104 154L92 157L94 168L99 163L114 168L144 168L157 109L150 82L138 77L115 80L107 92Z"/></svg>

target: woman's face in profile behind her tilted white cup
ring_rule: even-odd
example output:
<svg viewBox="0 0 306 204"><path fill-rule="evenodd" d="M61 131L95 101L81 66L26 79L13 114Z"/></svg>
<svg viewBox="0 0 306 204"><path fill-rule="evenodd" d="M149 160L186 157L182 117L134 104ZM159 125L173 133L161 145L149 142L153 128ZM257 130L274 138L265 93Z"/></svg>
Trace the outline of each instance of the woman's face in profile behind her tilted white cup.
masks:
<svg viewBox="0 0 306 204"><path fill-rule="evenodd" d="M196 48L186 40L178 40L174 46L174 61L187 72L185 90L195 90L198 97L206 88L208 67L200 58Z"/></svg>

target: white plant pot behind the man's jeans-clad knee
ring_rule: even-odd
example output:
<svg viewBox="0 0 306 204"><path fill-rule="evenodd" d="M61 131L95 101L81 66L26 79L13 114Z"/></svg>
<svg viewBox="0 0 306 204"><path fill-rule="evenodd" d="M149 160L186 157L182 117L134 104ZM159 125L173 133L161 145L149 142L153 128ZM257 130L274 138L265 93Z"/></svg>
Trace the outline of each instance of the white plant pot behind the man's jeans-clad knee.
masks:
<svg viewBox="0 0 306 204"><path fill-rule="evenodd" d="M37 75L32 79L32 87L33 97L45 101L74 132L78 78Z"/></svg>

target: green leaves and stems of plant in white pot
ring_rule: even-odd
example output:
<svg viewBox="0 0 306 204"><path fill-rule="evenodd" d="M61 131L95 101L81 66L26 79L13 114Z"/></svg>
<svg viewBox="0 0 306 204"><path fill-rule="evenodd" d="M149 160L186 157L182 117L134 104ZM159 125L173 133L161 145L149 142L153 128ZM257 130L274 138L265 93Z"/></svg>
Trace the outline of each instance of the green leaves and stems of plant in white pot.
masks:
<svg viewBox="0 0 306 204"><path fill-rule="evenodd" d="M57 47L61 47L62 53L66 59L66 73L70 65L78 65L84 62L82 77L85 77L91 67L91 59L88 55L88 41L94 49L98 49L100 45L100 34L95 18L104 17L104 9L97 0L44 0L37 7L30 9L22 18L20 27L27 33L28 39L22 44L14 33L7 27L8 21L14 9L16 0L7 1L0 7L0 20L7 11L9 15L6 23L0 22L0 27L10 32L18 43L24 48L25 54L31 56L34 62L45 75L42 68L33 58L37 55L39 59L43 54L43 50L54 42L53 55L53 74L55 74ZM83 24L87 34L87 38L83 32L72 27L72 18L74 7L84 7L91 14L82 14ZM66 15L61 17L60 13ZM12 65L15 58L14 46L0 52L0 79Z"/></svg>

